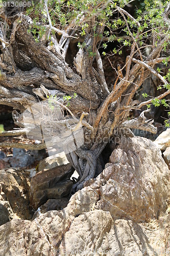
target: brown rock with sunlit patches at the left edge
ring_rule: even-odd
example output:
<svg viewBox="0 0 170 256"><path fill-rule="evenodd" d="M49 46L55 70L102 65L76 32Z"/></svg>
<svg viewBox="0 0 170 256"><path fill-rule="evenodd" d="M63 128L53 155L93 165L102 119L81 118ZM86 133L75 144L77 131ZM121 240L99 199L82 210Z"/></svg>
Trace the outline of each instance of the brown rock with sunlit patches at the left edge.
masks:
<svg viewBox="0 0 170 256"><path fill-rule="evenodd" d="M6 221L12 218L32 218L29 189L29 172L19 169L0 170L0 215L5 215ZM0 217L0 225L4 224L4 221Z"/></svg>

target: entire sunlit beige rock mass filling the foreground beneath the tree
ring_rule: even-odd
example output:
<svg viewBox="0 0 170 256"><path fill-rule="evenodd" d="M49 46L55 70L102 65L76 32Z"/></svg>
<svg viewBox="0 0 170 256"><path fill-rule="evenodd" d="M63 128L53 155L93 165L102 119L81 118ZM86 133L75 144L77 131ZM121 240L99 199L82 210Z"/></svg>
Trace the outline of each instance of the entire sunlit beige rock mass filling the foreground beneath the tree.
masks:
<svg viewBox="0 0 170 256"><path fill-rule="evenodd" d="M169 255L168 202L169 170L158 148L124 138L63 210L41 207L33 221L2 225L0 255Z"/></svg>

